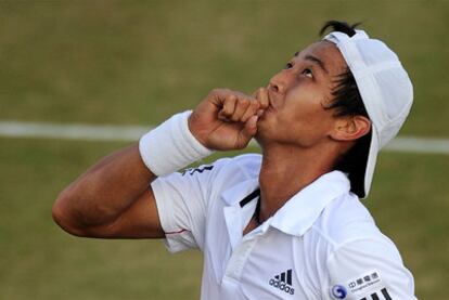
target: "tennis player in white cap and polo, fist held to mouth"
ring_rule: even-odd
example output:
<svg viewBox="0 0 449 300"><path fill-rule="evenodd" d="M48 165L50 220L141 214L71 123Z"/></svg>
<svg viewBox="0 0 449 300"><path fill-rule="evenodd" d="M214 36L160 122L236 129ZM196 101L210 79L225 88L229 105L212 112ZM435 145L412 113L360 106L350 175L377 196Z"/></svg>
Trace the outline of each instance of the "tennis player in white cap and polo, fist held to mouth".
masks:
<svg viewBox="0 0 449 300"><path fill-rule="evenodd" d="M360 201L412 84L397 55L355 27L328 22L321 35L331 32L254 95L214 90L103 158L61 193L54 220L77 236L200 248L202 299L415 299ZM261 155L184 169L253 138Z"/></svg>

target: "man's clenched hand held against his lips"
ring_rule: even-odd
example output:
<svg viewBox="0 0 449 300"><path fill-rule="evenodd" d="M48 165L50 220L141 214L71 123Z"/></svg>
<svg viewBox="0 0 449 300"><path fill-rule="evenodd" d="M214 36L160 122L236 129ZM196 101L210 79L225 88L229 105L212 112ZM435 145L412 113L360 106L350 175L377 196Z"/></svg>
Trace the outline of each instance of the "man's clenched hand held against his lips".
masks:
<svg viewBox="0 0 449 300"><path fill-rule="evenodd" d="M210 149L242 149L256 134L257 119L267 107L266 97L260 100L236 91L216 89L192 113L189 129Z"/></svg>

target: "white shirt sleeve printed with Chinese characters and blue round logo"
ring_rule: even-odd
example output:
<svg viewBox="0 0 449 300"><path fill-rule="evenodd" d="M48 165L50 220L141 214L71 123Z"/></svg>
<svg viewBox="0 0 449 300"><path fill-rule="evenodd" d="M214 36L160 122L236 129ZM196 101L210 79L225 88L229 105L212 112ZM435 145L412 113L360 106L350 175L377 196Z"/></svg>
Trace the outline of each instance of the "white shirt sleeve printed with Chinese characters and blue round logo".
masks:
<svg viewBox="0 0 449 300"><path fill-rule="evenodd" d="M390 240L347 243L329 258L328 269L331 299L416 299L413 277Z"/></svg>

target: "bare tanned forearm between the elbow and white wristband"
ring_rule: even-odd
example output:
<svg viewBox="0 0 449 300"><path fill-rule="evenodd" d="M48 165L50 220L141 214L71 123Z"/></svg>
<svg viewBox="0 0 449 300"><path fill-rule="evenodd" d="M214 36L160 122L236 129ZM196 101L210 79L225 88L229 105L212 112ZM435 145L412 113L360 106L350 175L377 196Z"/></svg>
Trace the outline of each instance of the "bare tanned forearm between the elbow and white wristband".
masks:
<svg viewBox="0 0 449 300"><path fill-rule="evenodd" d="M113 153L68 185L53 214L73 226L114 222L156 178L143 164L138 145Z"/></svg>

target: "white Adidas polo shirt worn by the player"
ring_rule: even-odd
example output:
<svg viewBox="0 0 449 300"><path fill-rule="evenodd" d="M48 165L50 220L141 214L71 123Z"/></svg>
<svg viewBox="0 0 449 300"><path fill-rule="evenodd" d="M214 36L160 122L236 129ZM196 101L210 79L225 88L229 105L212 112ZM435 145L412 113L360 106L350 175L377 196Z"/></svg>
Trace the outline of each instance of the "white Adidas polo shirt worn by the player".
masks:
<svg viewBox="0 0 449 300"><path fill-rule="evenodd" d="M167 248L204 253L202 299L416 299L397 248L339 171L243 236L260 162L256 154L224 158L152 183Z"/></svg>

